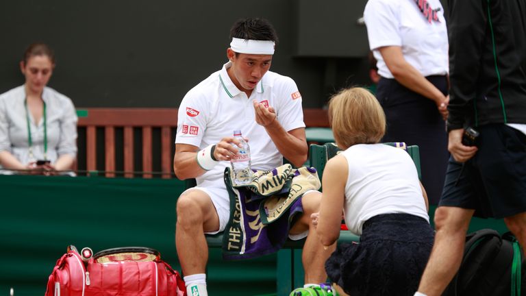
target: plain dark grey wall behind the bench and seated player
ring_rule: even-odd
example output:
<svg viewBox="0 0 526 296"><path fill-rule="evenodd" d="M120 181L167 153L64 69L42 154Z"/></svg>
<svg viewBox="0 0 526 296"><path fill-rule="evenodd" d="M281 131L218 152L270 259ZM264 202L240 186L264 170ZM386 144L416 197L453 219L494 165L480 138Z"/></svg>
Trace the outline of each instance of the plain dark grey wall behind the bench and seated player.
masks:
<svg viewBox="0 0 526 296"><path fill-rule="evenodd" d="M338 14L349 9L330 3L327 10ZM361 14L360 5L351 6L358 10L351 14ZM342 86L368 84L367 64L358 53L298 54L301 24L313 17L301 16L300 8L295 0L1 1L0 92L23 84L18 61L29 43L42 40L58 58L49 86L75 106L177 108L192 86L221 68L229 28L244 16L275 25L280 43L271 69L295 79L305 108L323 106ZM353 36L356 30L361 37ZM324 40L363 44L364 32L327 29Z"/></svg>

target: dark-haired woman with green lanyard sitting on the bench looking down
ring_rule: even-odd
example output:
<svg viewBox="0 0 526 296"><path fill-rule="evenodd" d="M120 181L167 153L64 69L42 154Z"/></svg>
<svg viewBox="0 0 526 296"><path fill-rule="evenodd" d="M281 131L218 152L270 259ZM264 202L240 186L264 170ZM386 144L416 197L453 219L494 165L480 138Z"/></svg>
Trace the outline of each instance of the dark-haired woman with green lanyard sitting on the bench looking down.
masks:
<svg viewBox="0 0 526 296"><path fill-rule="evenodd" d="M25 84L0 95L0 172L53 175L71 170L77 114L71 99L47 87L55 56L30 45L20 62Z"/></svg>

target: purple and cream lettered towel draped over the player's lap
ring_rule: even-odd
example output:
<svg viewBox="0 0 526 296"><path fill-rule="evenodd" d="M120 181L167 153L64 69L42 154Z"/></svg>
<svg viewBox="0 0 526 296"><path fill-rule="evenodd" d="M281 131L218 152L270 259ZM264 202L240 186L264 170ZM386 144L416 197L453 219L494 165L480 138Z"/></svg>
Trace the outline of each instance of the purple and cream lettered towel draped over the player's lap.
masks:
<svg viewBox="0 0 526 296"><path fill-rule="evenodd" d="M318 190L316 169L292 169L284 164L271 171L256 171L251 183L233 185L225 169L230 197L230 219L223 234L225 260L249 259L279 250L297 214L303 213L301 196Z"/></svg>

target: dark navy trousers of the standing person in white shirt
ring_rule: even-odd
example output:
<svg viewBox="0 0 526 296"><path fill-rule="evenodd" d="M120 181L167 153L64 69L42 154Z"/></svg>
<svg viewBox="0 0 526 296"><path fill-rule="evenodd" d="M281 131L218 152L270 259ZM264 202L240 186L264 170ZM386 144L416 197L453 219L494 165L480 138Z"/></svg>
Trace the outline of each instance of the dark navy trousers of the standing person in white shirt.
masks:
<svg viewBox="0 0 526 296"><path fill-rule="evenodd" d="M447 95L445 76L426 77L444 95ZM376 97L387 119L383 142L405 142L420 147L422 184L430 204L438 204L449 152L445 123L436 103L405 88L395 79L382 77L377 85Z"/></svg>

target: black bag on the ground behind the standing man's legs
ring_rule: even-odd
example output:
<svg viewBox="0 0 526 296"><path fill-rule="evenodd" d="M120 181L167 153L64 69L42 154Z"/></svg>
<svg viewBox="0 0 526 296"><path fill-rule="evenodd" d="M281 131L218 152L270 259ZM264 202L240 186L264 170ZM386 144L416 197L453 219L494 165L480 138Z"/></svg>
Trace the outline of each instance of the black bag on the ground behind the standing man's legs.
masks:
<svg viewBox="0 0 526 296"><path fill-rule="evenodd" d="M490 229L466 236L464 258L442 296L518 296L523 287L521 248L511 232L502 236Z"/></svg>

